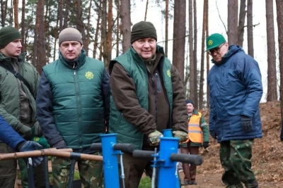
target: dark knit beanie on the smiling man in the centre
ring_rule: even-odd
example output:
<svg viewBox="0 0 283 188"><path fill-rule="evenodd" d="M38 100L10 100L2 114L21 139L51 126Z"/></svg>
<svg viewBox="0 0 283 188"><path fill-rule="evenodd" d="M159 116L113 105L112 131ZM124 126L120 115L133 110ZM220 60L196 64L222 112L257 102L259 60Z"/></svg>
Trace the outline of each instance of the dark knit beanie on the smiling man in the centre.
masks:
<svg viewBox="0 0 283 188"><path fill-rule="evenodd" d="M156 29L152 23L141 21L132 27L131 44L138 39L149 37L157 40Z"/></svg>

